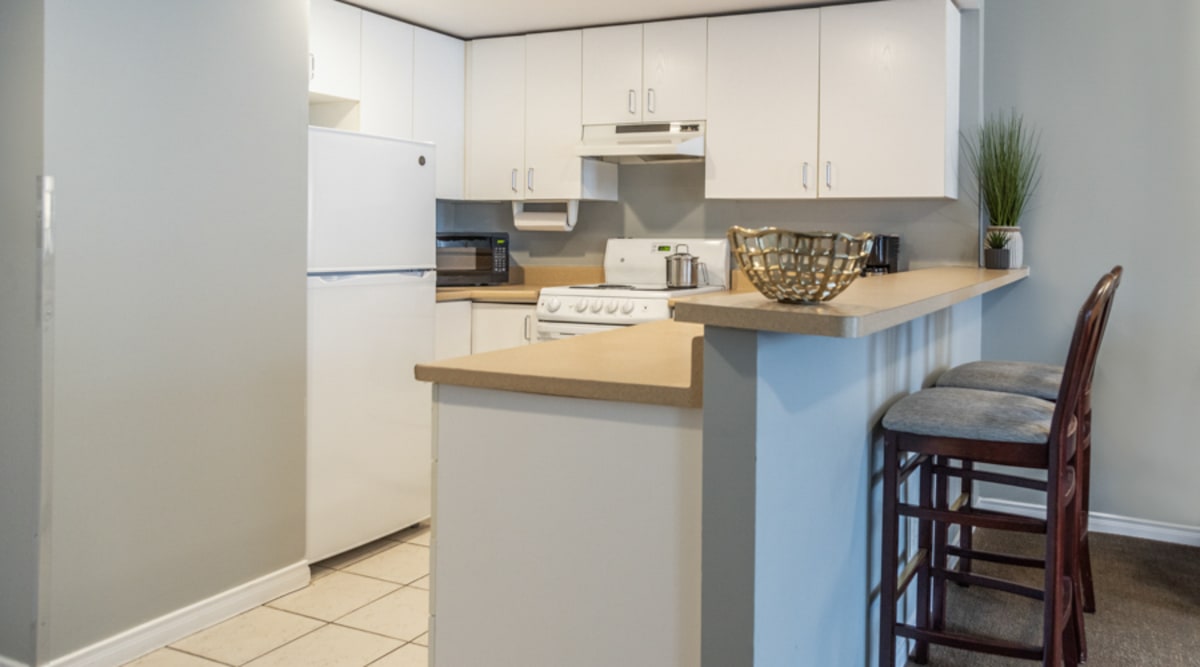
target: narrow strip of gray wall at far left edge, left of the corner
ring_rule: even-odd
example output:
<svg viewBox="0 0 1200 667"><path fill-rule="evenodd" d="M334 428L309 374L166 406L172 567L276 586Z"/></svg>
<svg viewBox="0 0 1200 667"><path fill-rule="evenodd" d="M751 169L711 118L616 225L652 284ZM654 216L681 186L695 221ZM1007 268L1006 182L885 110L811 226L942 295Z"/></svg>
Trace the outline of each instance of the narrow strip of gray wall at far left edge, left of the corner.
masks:
<svg viewBox="0 0 1200 667"><path fill-rule="evenodd" d="M0 662L32 662L41 464L42 4L0 2Z"/></svg>

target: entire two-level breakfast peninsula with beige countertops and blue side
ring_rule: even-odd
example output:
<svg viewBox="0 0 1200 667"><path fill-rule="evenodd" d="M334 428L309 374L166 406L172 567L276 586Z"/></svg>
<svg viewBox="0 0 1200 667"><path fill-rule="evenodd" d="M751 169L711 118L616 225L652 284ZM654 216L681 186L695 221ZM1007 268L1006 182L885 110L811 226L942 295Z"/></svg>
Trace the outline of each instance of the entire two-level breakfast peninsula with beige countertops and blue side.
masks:
<svg viewBox="0 0 1200 667"><path fill-rule="evenodd" d="M701 295L674 322L418 366L432 665L868 665L880 419L978 359L978 298L1027 275Z"/></svg>

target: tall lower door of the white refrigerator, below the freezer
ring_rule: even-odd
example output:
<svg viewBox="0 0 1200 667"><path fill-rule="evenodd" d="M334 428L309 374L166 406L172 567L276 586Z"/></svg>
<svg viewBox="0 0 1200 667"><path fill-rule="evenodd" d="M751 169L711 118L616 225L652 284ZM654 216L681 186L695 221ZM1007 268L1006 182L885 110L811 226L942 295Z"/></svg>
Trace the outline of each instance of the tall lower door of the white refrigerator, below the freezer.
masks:
<svg viewBox="0 0 1200 667"><path fill-rule="evenodd" d="M436 282L308 277L310 561L430 516Z"/></svg>

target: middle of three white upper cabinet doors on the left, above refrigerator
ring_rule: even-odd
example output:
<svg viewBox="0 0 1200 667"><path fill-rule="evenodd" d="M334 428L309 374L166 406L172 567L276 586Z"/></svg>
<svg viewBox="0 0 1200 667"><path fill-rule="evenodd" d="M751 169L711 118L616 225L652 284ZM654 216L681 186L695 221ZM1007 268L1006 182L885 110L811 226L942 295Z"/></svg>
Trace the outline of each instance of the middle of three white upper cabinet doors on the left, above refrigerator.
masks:
<svg viewBox="0 0 1200 667"><path fill-rule="evenodd" d="M362 12L359 130L413 138L413 26Z"/></svg>

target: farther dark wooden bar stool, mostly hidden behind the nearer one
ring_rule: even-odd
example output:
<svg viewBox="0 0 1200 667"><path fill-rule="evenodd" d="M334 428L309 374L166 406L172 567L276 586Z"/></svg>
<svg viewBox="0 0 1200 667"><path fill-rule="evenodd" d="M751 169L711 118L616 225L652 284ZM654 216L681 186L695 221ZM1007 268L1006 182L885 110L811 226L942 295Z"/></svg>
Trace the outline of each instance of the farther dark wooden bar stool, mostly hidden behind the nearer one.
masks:
<svg viewBox="0 0 1200 667"><path fill-rule="evenodd" d="M1114 266L1110 274L1114 276L1112 290L1116 292L1121 284L1123 269ZM1105 310L1100 318L1100 336L1108 325L1109 312L1112 300L1109 300L1109 310ZM1030 361L972 361L955 366L942 373L937 386L956 386L964 389L984 389L990 391L1003 391L1007 393L1020 393L1054 401L1058 396L1058 387L1062 384L1062 366L1054 363L1034 363ZM1091 489L1092 469L1092 377L1088 375L1084 386L1084 397L1080 403L1080 437L1079 437L1079 504L1080 516L1079 529L1079 585L1084 597L1084 611L1092 613L1096 611L1096 589L1092 584L1092 552L1087 540L1087 516L1091 507L1088 500ZM959 503L970 504L972 498L971 480L962 480L962 491ZM966 540L962 546L970 547L971 536L964 535ZM970 571L971 561L960 560L960 570Z"/></svg>

